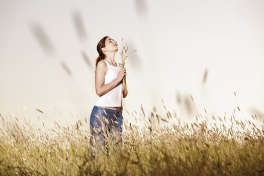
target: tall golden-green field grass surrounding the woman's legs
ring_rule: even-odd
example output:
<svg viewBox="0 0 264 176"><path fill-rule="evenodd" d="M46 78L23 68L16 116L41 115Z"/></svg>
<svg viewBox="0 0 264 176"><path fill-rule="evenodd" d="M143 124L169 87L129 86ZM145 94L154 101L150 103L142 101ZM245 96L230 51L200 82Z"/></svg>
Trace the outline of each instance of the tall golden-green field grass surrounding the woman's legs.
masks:
<svg viewBox="0 0 264 176"><path fill-rule="evenodd" d="M2 119L0 175L264 175L263 125L234 117L229 127L225 118L220 125L202 118L163 128L148 123L145 130L128 126L119 149L95 158L80 121L47 131Z"/></svg>

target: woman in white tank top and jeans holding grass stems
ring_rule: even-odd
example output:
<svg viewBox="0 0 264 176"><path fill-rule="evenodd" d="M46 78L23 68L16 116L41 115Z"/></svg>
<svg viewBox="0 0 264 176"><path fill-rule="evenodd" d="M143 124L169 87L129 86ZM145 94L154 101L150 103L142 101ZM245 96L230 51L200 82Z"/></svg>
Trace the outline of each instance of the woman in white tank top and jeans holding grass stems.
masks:
<svg viewBox="0 0 264 176"><path fill-rule="evenodd" d="M126 76L126 69L115 62L118 45L111 37L103 37L97 45L97 51L95 83L99 97L90 116L90 139L91 146L103 145L107 149L108 139L113 144L122 143L121 99L127 96L122 79Z"/></svg>

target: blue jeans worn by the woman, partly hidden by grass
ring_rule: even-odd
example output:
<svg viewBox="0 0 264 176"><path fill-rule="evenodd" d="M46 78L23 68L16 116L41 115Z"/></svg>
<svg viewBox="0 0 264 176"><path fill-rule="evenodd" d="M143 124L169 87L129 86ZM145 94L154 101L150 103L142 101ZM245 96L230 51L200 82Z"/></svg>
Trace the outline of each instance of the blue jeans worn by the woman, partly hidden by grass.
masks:
<svg viewBox="0 0 264 176"><path fill-rule="evenodd" d="M123 109L111 110L94 106L90 116L91 146L107 149L107 141L117 144L122 141ZM99 145L98 145L99 144Z"/></svg>

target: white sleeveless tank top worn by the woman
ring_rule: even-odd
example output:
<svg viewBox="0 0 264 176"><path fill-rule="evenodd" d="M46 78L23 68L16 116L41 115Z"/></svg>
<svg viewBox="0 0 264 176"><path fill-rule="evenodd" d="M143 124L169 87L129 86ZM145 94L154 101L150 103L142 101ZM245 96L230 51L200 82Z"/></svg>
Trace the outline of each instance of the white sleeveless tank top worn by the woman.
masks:
<svg viewBox="0 0 264 176"><path fill-rule="evenodd" d="M105 61L105 60L104 60ZM117 66L110 65L105 61L108 67L108 72L105 75L105 84L111 82L117 78L117 73L120 70L120 66L117 63ZM122 82L116 86L114 89L106 93L105 95L98 97L95 106L104 106L104 107L121 107L121 97L122 96Z"/></svg>

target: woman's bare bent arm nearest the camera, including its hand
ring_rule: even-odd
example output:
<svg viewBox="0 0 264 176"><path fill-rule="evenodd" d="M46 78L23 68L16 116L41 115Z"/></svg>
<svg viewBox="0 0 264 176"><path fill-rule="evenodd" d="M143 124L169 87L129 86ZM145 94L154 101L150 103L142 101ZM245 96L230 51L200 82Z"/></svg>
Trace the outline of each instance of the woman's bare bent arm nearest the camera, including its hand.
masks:
<svg viewBox="0 0 264 176"><path fill-rule="evenodd" d="M114 89L114 87L119 84L123 77L126 75L126 69L121 68L118 72L117 78L107 84L104 84L106 68L107 65L104 61L98 62L96 67L96 93L100 97Z"/></svg>

